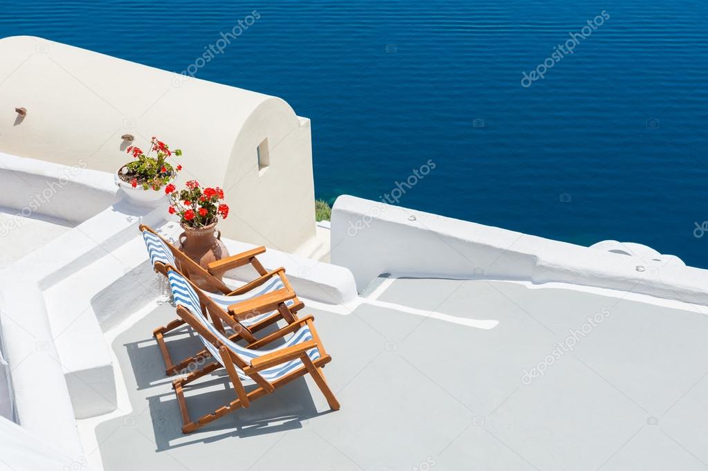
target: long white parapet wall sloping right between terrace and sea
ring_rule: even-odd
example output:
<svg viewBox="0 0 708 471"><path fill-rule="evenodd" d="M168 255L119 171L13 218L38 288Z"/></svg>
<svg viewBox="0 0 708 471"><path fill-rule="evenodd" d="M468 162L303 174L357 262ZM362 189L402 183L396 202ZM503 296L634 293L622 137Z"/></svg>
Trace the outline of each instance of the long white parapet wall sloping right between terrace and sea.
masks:
<svg viewBox="0 0 708 471"><path fill-rule="evenodd" d="M708 305L708 270L394 207L350 196L332 208L331 262L362 291L393 272L458 279L551 281L644 293Z"/></svg>

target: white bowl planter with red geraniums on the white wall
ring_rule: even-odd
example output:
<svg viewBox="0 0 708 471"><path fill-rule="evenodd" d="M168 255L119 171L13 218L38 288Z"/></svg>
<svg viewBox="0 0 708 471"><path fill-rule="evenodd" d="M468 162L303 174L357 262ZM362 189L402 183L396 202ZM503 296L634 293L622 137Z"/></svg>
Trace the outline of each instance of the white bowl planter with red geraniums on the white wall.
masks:
<svg viewBox="0 0 708 471"><path fill-rule="evenodd" d="M138 146L130 146L126 152L135 160L118 169L118 186L138 203L154 203L164 198L166 192L161 192L161 188L169 185L182 170L182 165L173 167L167 158L173 154L181 156L182 151L171 151L167 144L153 136L147 153Z"/></svg>

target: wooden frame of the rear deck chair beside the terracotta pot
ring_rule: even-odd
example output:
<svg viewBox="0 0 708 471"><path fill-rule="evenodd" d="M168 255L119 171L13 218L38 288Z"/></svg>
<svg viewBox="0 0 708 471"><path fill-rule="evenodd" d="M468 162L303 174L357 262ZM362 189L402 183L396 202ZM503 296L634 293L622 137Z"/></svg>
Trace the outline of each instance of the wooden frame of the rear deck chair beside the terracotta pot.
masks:
<svg viewBox="0 0 708 471"><path fill-rule="evenodd" d="M188 273L185 273L182 272L181 269L179 269L178 267L173 267L176 272L179 272L183 275L183 277L187 279L190 279L189 273L196 273L201 279L208 279L210 286L214 287L215 291L220 291L221 293L227 296L236 296L248 293L249 291L251 291L251 289L256 289L258 286L261 286L269 279L276 276L280 277L282 284L285 285L285 290L280 289L278 291L274 291L273 293L268 293L263 296L258 296L256 298L249 299L247 301L235 303L233 306L229 306L229 313L232 314L232 319L230 321L226 320L225 318L222 318L221 315L224 313L224 311L219 306L217 306L216 303L211 301L208 296L205 296L205 298L209 299L210 301L209 303L206 303L207 308L209 308L210 311L215 310L214 316L216 316L217 319L222 319L223 322L226 322L227 325L229 325L229 327L232 327L232 329L234 329L234 332L236 332L236 334L232 335L232 340L234 341L236 341L236 339L239 339L239 337L242 337L246 339L246 342L255 342L256 337L253 336L254 332L258 332L259 330L262 330L265 327L268 327L269 325L278 322L278 320L280 320L281 318L288 323L293 322L297 320L297 312L304 307L304 303L302 303L302 301L299 301L297 295L295 295L295 291L293 291L292 286L290 285L290 281L285 276L285 268L280 267L278 269L268 271L263 268L261 262L258 261L256 255L265 252L265 247L263 246L248 250L246 252L241 252L236 255L232 255L231 257L227 257L222 260L217 260L217 262L212 262L209 264L210 269L207 271L206 269L201 267L200 264L190 259L190 257L185 255L181 250L172 245L169 240L166 240L164 237L160 236L158 233L156 233L156 231L154 231L154 229L150 228L149 226L141 224L139 226L139 231L140 233L142 233L142 231L147 231L149 233L152 233L154 236L160 238L164 242L166 247L171 250L173 256L175 257L175 260L181 264L181 267L187 267L188 269ZM260 276L254 279L253 281L244 284L244 286L240 286L237 289L232 290L231 288L229 288L229 286L224 284L223 281L214 276L214 273L223 273L228 271L229 269L242 267L246 264L251 264L253 268L256 269L256 272L260 274ZM164 263L156 262L153 268L156 272L159 272L164 277L167 277L167 269ZM195 289L197 289L200 293L202 292L196 286ZM290 296L291 293L293 296ZM294 304L290 307L285 306L285 301L289 301L290 299L293 300ZM248 318L249 316L254 314L268 312L268 310L278 310L279 315L273 314L268 318L265 318L260 322L251 325L250 327L241 325L241 320L244 320L245 318ZM215 325L223 332L223 326L221 322L218 320L217 322L219 323L215 323ZM153 337L155 337L155 340L164 359L165 373L168 376L179 373L184 368L187 368L189 364L193 363L194 361L198 361L200 359L210 356L209 352L206 349L203 349L197 354L189 356L188 358L185 358L181 361L173 361L169 349L167 348L164 336L166 335L166 333L171 332L172 330L175 330L176 328L181 327L184 324L184 320L178 318L172 320L164 327L156 328L152 332L152 335Z"/></svg>

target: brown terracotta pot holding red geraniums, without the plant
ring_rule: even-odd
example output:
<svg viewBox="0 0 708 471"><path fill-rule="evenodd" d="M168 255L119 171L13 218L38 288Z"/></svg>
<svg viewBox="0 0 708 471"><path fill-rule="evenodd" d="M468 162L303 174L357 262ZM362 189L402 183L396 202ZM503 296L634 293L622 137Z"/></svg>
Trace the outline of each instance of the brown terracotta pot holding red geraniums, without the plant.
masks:
<svg viewBox="0 0 708 471"><path fill-rule="evenodd" d="M217 221L200 228L188 227L184 224L181 226L184 232L179 236L180 250L205 269L211 262L229 256L226 246L221 241L221 233L216 229ZM186 270L185 267L179 267L179 269L182 272ZM215 290L215 287L211 286L206 277L200 277L199 274L193 272L188 273L188 276L201 289L207 291ZM222 275L219 274L216 278L220 280Z"/></svg>

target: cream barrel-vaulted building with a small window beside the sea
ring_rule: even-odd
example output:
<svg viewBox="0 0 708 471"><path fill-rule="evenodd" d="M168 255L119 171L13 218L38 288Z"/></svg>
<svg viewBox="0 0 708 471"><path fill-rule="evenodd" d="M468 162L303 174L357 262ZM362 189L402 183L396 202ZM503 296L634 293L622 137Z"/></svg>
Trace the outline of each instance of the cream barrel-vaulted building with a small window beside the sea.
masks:
<svg viewBox="0 0 708 471"><path fill-rule="evenodd" d="M315 237L310 122L284 100L40 37L0 39L0 57L0 151L115 173L157 136L183 151L178 185L224 189L224 236L287 252Z"/></svg>

